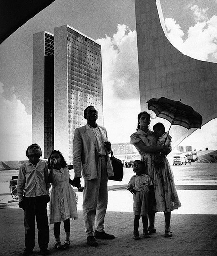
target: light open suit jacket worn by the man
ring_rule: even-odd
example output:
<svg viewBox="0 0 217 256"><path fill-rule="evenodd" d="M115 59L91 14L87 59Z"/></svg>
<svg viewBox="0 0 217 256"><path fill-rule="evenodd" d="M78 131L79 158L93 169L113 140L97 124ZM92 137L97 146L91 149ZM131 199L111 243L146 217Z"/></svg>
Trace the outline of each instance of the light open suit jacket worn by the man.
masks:
<svg viewBox="0 0 217 256"><path fill-rule="evenodd" d="M106 129L102 126L99 126L99 129L104 141L106 141ZM113 176L114 173L108 152L107 150L105 151L107 155L107 174L110 177ZM76 128L73 139L73 165L75 178L81 177L82 173L84 180L97 179L98 155L98 146L94 133L87 127L87 125Z"/></svg>

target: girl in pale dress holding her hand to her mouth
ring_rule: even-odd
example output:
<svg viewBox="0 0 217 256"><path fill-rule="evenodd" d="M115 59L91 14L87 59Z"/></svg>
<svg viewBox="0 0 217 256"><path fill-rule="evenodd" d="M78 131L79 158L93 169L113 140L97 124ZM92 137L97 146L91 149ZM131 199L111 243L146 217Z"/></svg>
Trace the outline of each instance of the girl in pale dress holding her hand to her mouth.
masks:
<svg viewBox="0 0 217 256"><path fill-rule="evenodd" d="M67 163L59 150L53 150L48 158L50 174L48 181L52 184L49 223L53 224L55 244L57 250L66 250L70 245L70 218L78 219L78 197L70 183ZM73 184L73 183L72 183ZM64 223L65 242L61 244L60 225Z"/></svg>

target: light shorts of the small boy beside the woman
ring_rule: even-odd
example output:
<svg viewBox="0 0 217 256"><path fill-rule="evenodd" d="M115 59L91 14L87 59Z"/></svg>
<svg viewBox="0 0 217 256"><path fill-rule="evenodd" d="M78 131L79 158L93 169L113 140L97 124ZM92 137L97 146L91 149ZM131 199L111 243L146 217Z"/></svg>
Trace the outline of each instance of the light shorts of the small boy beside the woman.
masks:
<svg viewBox="0 0 217 256"><path fill-rule="evenodd" d="M147 215L149 209L149 192L137 191L133 195L133 213L134 215Z"/></svg>

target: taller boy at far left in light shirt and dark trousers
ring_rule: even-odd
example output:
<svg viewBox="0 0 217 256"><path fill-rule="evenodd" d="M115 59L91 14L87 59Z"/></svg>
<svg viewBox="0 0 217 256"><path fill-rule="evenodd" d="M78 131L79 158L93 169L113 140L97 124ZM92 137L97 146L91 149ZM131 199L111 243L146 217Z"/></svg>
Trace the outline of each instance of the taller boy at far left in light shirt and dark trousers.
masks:
<svg viewBox="0 0 217 256"><path fill-rule="evenodd" d="M35 218L38 228L39 255L48 255L49 225L47 203L49 187L47 163L40 160L42 150L38 144L28 146L29 161L21 165L17 180L19 207L24 210L25 249L23 255L31 255L35 247Z"/></svg>

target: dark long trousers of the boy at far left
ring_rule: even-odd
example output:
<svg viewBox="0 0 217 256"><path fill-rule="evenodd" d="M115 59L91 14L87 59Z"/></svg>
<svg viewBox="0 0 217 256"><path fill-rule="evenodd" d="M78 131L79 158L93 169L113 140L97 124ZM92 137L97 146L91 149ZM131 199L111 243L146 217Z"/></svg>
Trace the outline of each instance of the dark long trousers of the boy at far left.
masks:
<svg viewBox="0 0 217 256"><path fill-rule="evenodd" d="M38 228L38 245L40 249L47 249L49 243L49 225L47 217L47 197L24 198L24 227L26 251L35 247L35 217Z"/></svg>

